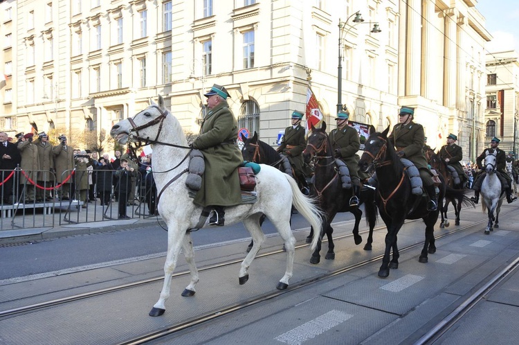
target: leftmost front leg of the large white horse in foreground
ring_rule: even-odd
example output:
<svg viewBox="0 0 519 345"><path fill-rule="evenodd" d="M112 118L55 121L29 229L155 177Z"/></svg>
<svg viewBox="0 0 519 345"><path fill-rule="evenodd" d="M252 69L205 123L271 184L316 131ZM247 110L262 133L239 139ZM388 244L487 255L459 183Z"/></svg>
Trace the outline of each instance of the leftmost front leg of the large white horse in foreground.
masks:
<svg viewBox="0 0 519 345"><path fill-rule="evenodd" d="M168 222L167 226L167 255L164 263L164 283L161 290L161 297L149 312L149 316L163 315L165 308L165 301L170 297L171 276L176 267L176 262L179 260L180 249L182 246L182 238L185 232L179 232L179 228L170 224L176 223L176 220Z"/></svg>

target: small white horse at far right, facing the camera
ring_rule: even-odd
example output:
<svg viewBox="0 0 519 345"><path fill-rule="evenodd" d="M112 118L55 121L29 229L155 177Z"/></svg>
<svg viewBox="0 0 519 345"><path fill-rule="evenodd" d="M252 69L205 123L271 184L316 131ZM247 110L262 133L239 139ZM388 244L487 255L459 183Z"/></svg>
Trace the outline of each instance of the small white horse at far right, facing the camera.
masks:
<svg viewBox="0 0 519 345"><path fill-rule="evenodd" d="M489 235L493 231L492 224L495 220L495 227L499 227L499 212L503 203L504 193L501 192L501 182L496 172L497 152L486 152L484 169L486 176L481 185L482 209L488 211L489 222L486 225L485 234ZM495 217L494 217L495 212Z"/></svg>

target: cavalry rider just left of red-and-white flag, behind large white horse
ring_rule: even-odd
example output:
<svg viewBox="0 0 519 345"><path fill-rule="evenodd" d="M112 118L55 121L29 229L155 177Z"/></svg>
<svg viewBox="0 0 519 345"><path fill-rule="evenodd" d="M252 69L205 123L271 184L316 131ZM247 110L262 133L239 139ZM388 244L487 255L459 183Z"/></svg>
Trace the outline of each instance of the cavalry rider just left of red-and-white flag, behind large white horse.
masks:
<svg viewBox="0 0 519 345"><path fill-rule="evenodd" d="M310 188L303 172L304 160L302 152L307 147L307 141L304 140L304 134L306 131L301 125L303 115L302 112L298 112L297 110L292 112L292 125L285 128L283 141L277 148L277 152L280 152L280 154L283 154L289 159L294 170L294 175L302 186L302 193L304 195L309 195Z"/></svg>

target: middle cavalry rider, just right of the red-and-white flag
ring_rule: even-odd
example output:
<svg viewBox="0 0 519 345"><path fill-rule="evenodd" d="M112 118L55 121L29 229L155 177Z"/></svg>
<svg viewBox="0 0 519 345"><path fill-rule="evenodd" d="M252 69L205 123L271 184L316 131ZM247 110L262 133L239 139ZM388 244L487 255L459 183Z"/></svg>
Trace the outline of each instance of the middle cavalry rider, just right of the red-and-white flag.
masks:
<svg viewBox="0 0 519 345"><path fill-rule="evenodd" d="M349 206L358 205L358 197L361 195L361 180L358 178L358 149L361 147L361 141L358 139L357 131L348 125L349 112L340 110L337 113L335 121L337 128L331 130L329 138L331 148L334 150L334 156L343 161L349 170L349 176L352 178L353 195L349 199Z"/></svg>

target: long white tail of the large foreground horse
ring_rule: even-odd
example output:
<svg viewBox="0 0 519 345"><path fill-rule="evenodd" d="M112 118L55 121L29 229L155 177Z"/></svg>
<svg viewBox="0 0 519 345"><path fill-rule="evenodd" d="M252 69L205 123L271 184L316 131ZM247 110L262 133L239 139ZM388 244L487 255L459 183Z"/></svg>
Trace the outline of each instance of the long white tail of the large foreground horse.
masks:
<svg viewBox="0 0 519 345"><path fill-rule="evenodd" d="M295 179L286 174L283 174L283 176L286 177L286 180L290 184L290 188L292 188L293 206L298 210L299 213L301 213L304 219L306 219L313 228L313 238L310 245L310 249L313 251L317 247L317 242L319 240L322 228L322 218L324 215L318 208L316 200L313 200L301 193L298 183L295 182Z"/></svg>

